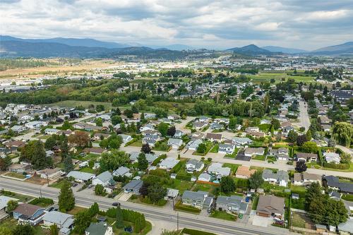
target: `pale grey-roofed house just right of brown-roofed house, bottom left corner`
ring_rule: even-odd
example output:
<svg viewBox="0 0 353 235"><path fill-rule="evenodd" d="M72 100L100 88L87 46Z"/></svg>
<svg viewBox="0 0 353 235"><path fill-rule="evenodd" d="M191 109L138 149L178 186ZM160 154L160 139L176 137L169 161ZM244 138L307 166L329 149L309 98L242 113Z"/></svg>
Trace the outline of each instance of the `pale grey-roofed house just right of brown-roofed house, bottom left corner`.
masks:
<svg viewBox="0 0 353 235"><path fill-rule="evenodd" d="M70 234L73 227L73 215L69 215L63 212L52 210L47 212L43 217L43 224L50 227L56 224L60 234Z"/></svg>

